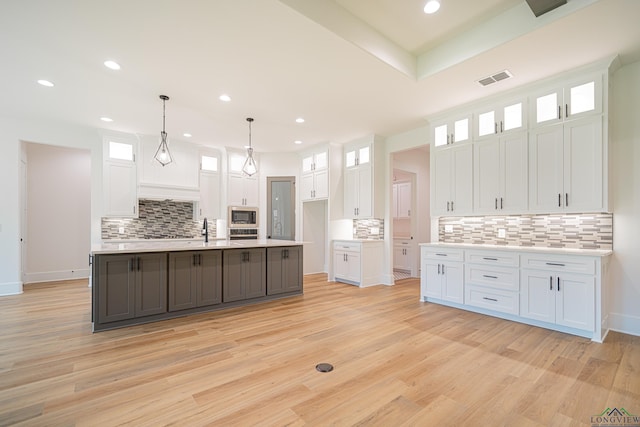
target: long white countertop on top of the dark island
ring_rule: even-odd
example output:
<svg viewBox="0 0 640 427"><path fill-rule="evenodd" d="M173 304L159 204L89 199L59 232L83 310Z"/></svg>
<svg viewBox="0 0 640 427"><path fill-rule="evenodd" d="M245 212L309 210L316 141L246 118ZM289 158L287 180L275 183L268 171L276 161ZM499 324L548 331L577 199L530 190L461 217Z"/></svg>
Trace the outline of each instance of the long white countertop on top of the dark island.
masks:
<svg viewBox="0 0 640 427"><path fill-rule="evenodd" d="M149 240L126 243L102 243L91 247L91 254L124 254L141 252L195 251L207 249L267 248L277 246L299 246L306 242L296 240Z"/></svg>

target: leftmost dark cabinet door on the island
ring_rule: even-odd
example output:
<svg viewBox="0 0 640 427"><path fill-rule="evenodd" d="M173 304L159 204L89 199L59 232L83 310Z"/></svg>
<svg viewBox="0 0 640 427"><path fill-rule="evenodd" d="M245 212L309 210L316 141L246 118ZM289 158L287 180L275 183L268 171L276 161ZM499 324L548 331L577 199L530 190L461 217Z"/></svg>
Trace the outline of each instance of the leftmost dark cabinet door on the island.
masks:
<svg viewBox="0 0 640 427"><path fill-rule="evenodd" d="M97 323L132 319L135 316L135 271L132 255L99 255L99 275L94 284L98 292Z"/></svg>

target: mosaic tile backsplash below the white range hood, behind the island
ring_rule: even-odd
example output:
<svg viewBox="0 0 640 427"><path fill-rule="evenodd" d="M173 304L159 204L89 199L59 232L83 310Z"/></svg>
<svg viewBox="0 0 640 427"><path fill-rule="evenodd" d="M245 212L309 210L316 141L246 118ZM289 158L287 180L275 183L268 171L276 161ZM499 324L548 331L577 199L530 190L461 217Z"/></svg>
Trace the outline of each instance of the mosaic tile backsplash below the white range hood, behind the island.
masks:
<svg viewBox="0 0 640 427"><path fill-rule="evenodd" d="M208 221L209 236L216 221ZM120 233L120 228L124 233ZM102 239L201 238L202 223L193 219L193 203L173 200L138 201L138 218L102 218Z"/></svg>

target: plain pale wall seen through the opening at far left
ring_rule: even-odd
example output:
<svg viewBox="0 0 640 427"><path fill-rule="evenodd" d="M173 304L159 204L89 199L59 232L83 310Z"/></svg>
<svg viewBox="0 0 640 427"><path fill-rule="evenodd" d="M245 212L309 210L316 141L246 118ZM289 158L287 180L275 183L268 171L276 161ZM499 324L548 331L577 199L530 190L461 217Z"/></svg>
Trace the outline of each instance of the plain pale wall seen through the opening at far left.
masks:
<svg viewBox="0 0 640 427"><path fill-rule="evenodd" d="M91 152L25 144L25 283L89 276Z"/></svg>

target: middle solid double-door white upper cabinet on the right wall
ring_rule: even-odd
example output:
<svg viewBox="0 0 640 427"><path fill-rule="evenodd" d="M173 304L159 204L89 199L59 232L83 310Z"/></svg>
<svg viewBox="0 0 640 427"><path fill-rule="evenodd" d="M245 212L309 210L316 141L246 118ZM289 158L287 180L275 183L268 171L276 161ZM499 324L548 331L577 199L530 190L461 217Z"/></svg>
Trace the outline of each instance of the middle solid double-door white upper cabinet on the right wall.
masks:
<svg viewBox="0 0 640 427"><path fill-rule="evenodd" d="M526 212L527 133L474 143L473 211L476 214Z"/></svg>

